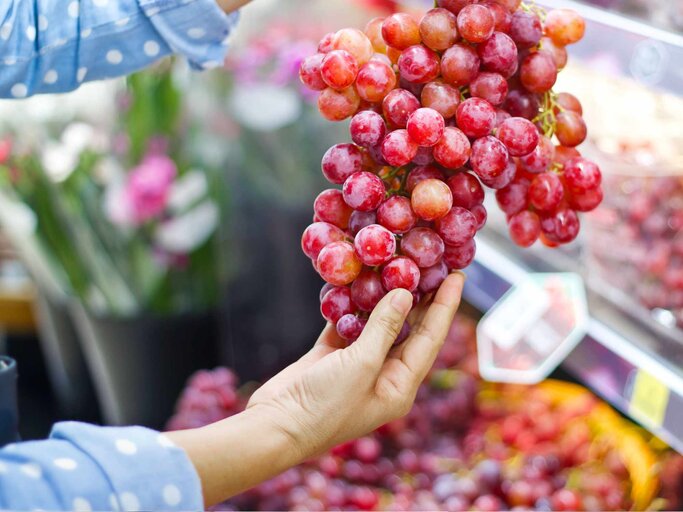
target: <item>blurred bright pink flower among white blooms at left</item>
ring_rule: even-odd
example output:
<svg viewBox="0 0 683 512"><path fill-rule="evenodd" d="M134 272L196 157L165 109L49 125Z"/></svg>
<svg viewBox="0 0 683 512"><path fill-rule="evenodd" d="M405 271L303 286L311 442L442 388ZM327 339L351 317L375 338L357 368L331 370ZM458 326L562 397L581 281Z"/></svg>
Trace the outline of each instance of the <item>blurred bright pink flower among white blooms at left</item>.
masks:
<svg viewBox="0 0 683 512"><path fill-rule="evenodd" d="M124 195L135 222L143 223L163 213L176 173L173 160L160 154L146 156L130 171Z"/></svg>

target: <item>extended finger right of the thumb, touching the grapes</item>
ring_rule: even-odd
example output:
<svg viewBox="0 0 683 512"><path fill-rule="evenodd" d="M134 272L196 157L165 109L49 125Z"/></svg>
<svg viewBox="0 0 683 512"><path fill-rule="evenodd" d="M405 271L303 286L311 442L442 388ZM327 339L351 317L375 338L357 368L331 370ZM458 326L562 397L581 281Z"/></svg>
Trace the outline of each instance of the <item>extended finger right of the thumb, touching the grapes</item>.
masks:
<svg viewBox="0 0 683 512"><path fill-rule="evenodd" d="M413 326L413 332L404 344L401 360L414 375L419 376L419 382L427 375L443 345L460 306L464 284L464 274L450 274L421 321Z"/></svg>

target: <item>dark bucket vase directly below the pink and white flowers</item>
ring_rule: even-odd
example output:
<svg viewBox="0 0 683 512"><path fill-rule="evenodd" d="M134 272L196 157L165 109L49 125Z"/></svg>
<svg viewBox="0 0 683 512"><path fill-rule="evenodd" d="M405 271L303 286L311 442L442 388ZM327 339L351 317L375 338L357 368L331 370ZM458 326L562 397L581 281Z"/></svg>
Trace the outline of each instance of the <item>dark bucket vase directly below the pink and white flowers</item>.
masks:
<svg viewBox="0 0 683 512"><path fill-rule="evenodd" d="M217 364L215 312L109 318L72 309L104 421L163 428L188 377Z"/></svg>

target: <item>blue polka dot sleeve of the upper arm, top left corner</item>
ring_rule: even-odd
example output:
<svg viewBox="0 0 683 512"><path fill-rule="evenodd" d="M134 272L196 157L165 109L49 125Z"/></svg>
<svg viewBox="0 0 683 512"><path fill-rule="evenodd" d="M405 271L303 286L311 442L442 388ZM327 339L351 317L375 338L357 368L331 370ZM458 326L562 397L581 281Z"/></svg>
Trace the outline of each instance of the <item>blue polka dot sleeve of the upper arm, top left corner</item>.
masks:
<svg viewBox="0 0 683 512"><path fill-rule="evenodd" d="M0 0L0 97L69 91L171 53L217 67L237 18L215 0Z"/></svg>

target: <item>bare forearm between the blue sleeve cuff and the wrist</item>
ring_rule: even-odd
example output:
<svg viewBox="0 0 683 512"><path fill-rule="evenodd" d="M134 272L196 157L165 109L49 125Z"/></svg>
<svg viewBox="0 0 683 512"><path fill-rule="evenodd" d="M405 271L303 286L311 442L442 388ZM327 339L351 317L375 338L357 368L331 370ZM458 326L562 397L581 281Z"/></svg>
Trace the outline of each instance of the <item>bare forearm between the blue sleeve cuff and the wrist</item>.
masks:
<svg viewBox="0 0 683 512"><path fill-rule="evenodd" d="M205 507L303 461L303 454L270 412L253 407L200 429L167 434L194 464L202 482Z"/></svg>

